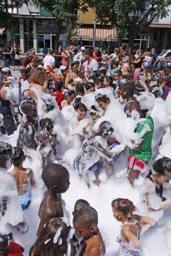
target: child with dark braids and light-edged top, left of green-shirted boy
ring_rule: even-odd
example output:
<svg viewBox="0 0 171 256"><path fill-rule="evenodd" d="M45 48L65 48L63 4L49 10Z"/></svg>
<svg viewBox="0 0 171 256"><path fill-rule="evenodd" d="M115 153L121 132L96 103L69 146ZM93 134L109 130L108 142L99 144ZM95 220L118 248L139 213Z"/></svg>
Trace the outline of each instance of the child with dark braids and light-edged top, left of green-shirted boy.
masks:
<svg viewBox="0 0 171 256"><path fill-rule="evenodd" d="M123 83L122 86L119 87L119 94L121 95L122 99L125 99L122 108L127 114L127 117L131 117L132 103L134 101L134 88L135 86L132 82Z"/></svg>

